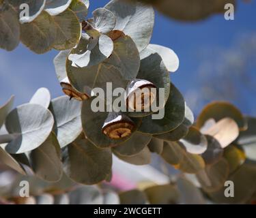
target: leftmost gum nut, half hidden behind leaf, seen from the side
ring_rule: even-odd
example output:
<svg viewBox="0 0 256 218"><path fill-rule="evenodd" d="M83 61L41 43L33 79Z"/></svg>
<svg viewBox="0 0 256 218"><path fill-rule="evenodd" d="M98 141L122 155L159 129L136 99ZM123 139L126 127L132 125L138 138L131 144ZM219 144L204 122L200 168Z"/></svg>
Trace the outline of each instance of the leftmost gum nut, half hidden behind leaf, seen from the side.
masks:
<svg viewBox="0 0 256 218"><path fill-rule="evenodd" d="M72 87L72 85L68 80L68 77L64 78L60 84L61 84L63 93L65 93L65 95L68 95L70 99L74 98L80 102L82 102L83 100L89 99L89 95L87 95L86 93L80 93L79 91L74 89L74 87Z"/></svg>

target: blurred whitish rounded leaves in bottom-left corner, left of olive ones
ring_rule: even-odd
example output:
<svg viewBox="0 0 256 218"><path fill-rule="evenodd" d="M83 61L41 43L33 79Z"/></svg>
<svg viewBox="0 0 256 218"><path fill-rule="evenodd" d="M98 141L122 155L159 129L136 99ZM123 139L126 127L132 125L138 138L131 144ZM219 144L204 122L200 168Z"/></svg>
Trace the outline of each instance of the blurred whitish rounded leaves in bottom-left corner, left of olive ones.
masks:
<svg viewBox="0 0 256 218"><path fill-rule="evenodd" d="M20 197L20 181L29 182L29 197ZM118 194L110 188L79 185L65 174L57 183L47 183L35 176L15 176L0 189L3 204L119 204Z"/></svg>

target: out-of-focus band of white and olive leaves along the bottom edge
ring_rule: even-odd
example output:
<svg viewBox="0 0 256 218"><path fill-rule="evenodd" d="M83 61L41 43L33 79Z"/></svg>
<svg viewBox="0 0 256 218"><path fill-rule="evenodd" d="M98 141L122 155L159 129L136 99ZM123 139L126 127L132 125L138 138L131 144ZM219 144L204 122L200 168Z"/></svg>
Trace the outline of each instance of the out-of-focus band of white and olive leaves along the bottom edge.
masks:
<svg viewBox="0 0 256 218"><path fill-rule="evenodd" d="M20 181L29 182L30 197L20 197ZM184 176L167 185L118 192L106 185L79 185L65 174L57 183L17 176L10 185L1 187L0 194L3 204L205 204L200 189Z"/></svg>

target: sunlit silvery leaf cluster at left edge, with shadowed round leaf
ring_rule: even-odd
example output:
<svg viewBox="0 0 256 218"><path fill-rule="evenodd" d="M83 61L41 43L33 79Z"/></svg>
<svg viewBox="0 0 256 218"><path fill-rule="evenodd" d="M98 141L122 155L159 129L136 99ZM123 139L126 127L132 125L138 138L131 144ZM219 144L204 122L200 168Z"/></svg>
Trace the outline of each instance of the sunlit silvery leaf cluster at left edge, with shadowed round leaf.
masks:
<svg viewBox="0 0 256 218"><path fill-rule="evenodd" d="M1 125L8 132L0 137L1 161L21 174L26 166L40 178L59 181L61 148L82 131L81 104L59 97L51 101L47 89L39 89L29 104L12 108L14 97L1 107Z"/></svg>

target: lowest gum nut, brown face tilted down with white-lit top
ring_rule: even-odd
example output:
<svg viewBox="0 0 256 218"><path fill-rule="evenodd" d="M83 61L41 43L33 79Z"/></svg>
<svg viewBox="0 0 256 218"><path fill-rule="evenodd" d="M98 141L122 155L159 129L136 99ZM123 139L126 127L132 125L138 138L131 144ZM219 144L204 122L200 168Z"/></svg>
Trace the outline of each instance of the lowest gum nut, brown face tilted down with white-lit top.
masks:
<svg viewBox="0 0 256 218"><path fill-rule="evenodd" d="M102 132L111 139L126 138L132 134L133 121L126 115L117 112L109 112L102 127Z"/></svg>

